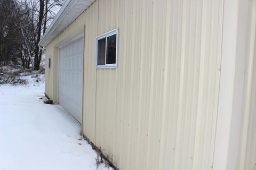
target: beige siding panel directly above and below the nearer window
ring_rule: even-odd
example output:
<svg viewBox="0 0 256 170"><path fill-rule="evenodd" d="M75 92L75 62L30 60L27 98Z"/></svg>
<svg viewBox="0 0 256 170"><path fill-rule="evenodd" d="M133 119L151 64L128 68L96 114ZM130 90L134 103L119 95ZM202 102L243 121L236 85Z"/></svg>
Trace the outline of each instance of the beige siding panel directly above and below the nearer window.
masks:
<svg viewBox="0 0 256 170"><path fill-rule="evenodd" d="M98 35L117 28L117 19L118 1L99 1ZM95 145L108 154L114 153L115 145L116 71L96 71Z"/></svg>

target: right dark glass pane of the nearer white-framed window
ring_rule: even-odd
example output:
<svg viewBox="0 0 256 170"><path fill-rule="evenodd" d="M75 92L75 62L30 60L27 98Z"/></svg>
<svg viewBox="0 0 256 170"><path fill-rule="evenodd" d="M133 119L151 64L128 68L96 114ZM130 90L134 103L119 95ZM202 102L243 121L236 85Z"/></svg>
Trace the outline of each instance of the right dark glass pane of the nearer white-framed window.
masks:
<svg viewBox="0 0 256 170"><path fill-rule="evenodd" d="M107 37L107 64L116 63L116 34Z"/></svg>

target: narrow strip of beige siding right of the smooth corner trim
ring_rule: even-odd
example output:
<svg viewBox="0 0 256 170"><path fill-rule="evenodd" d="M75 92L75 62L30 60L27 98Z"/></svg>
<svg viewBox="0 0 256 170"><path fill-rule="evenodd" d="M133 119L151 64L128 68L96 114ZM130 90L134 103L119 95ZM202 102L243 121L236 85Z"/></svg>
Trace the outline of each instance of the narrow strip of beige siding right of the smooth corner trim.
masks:
<svg viewBox="0 0 256 170"><path fill-rule="evenodd" d="M252 1L249 33L247 37L247 56L245 64L244 109L242 119L241 150L239 169L256 167L256 1Z"/></svg>

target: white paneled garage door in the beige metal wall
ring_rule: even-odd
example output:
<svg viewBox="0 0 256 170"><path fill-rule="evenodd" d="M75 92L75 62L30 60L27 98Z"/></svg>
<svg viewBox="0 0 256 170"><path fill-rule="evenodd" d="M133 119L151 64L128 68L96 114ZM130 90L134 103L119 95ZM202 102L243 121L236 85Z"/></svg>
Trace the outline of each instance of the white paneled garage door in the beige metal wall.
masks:
<svg viewBox="0 0 256 170"><path fill-rule="evenodd" d="M82 123L83 38L59 50L59 104Z"/></svg>

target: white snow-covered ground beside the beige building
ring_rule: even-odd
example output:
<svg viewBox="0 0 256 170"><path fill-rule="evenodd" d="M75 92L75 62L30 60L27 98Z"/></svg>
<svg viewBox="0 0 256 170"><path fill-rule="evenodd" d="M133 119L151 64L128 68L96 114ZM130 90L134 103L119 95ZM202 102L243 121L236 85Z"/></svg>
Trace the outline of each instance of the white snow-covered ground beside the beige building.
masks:
<svg viewBox="0 0 256 170"><path fill-rule="evenodd" d="M23 79L29 84L0 85L0 170L97 169L96 152L78 140L80 125L61 106L43 104L43 81Z"/></svg>

